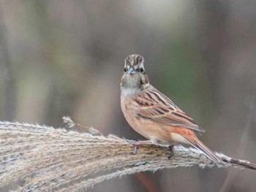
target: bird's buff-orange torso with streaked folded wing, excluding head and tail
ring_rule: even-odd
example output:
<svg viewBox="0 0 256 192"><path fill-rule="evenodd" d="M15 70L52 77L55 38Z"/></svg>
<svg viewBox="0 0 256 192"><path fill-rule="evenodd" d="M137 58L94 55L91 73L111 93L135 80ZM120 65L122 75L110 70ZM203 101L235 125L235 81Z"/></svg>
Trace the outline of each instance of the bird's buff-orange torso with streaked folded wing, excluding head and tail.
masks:
<svg viewBox="0 0 256 192"><path fill-rule="evenodd" d="M195 137L193 131L204 131L152 85L138 94L132 92L138 93L122 91L121 109L129 125L152 142L189 144L186 136Z"/></svg>

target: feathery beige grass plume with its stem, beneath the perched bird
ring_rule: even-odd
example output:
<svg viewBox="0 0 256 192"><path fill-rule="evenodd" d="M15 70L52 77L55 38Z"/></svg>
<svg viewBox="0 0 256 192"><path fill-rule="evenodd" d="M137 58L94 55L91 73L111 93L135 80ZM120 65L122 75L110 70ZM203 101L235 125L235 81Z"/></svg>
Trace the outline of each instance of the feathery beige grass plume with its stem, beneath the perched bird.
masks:
<svg viewBox="0 0 256 192"><path fill-rule="evenodd" d="M69 126L80 126L65 118ZM64 128L0 121L0 185L26 180L17 191L79 191L138 172L178 166L216 164L195 148L140 145L136 154L127 139L104 136L94 128L85 133ZM227 166L256 169L255 164L217 153Z"/></svg>

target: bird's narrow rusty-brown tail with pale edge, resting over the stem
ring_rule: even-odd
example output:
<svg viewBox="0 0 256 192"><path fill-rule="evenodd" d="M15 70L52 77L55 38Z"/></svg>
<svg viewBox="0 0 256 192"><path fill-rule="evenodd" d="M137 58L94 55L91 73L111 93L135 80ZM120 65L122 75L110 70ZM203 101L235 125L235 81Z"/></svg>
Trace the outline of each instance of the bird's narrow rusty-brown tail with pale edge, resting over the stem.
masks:
<svg viewBox="0 0 256 192"><path fill-rule="evenodd" d="M199 139L195 139L192 142L188 141L193 147L197 148L197 150L200 150L205 154L208 158L210 158L215 163L225 166L225 162L222 161L221 158L219 158L212 150L210 150L206 145L203 144L203 142L200 142Z"/></svg>

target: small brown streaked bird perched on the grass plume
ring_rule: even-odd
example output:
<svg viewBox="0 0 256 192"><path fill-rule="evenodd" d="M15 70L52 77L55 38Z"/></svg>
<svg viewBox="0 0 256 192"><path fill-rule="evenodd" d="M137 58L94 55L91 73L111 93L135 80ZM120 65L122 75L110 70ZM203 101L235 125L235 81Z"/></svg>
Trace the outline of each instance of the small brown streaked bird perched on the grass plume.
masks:
<svg viewBox="0 0 256 192"><path fill-rule="evenodd" d="M167 144L173 149L176 143L192 145L217 164L224 161L200 142L196 132L204 132L167 96L148 81L141 55L124 59L121 77L121 110L132 128L156 144Z"/></svg>

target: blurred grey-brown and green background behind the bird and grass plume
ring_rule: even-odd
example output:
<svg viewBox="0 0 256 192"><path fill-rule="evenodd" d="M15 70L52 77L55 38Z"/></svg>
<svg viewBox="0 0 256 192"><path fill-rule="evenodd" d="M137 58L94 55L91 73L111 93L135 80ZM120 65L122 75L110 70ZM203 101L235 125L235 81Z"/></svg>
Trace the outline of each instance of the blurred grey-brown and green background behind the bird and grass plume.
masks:
<svg viewBox="0 0 256 192"><path fill-rule="evenodd" d="M256 162L256 1L0 1L0 120L62 116L143 139L124 119L124 58L204 129L212 150ZM89 191L255 191L255 172L165 169Z"/></svg>

